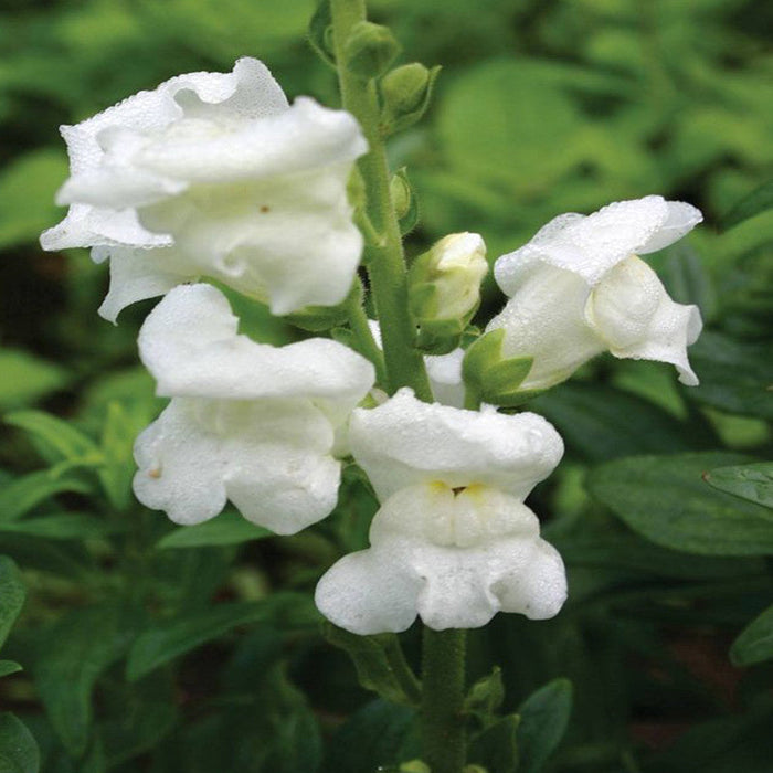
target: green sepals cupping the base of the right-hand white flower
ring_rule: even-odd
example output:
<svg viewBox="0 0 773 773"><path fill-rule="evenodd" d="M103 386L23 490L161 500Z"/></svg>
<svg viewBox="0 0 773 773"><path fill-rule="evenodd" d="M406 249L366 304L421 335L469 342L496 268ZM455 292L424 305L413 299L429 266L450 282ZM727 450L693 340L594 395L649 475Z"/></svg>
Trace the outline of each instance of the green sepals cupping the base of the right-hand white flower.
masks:
<svg viewBox="0 0 773 773"><path fill-rule="evenodd" d="M502 358L505 330L484 333L465 353L462 374L467 390L481 402L502 407L516 407L544 390L519 390L529 374L533 358Z"/></svg>

